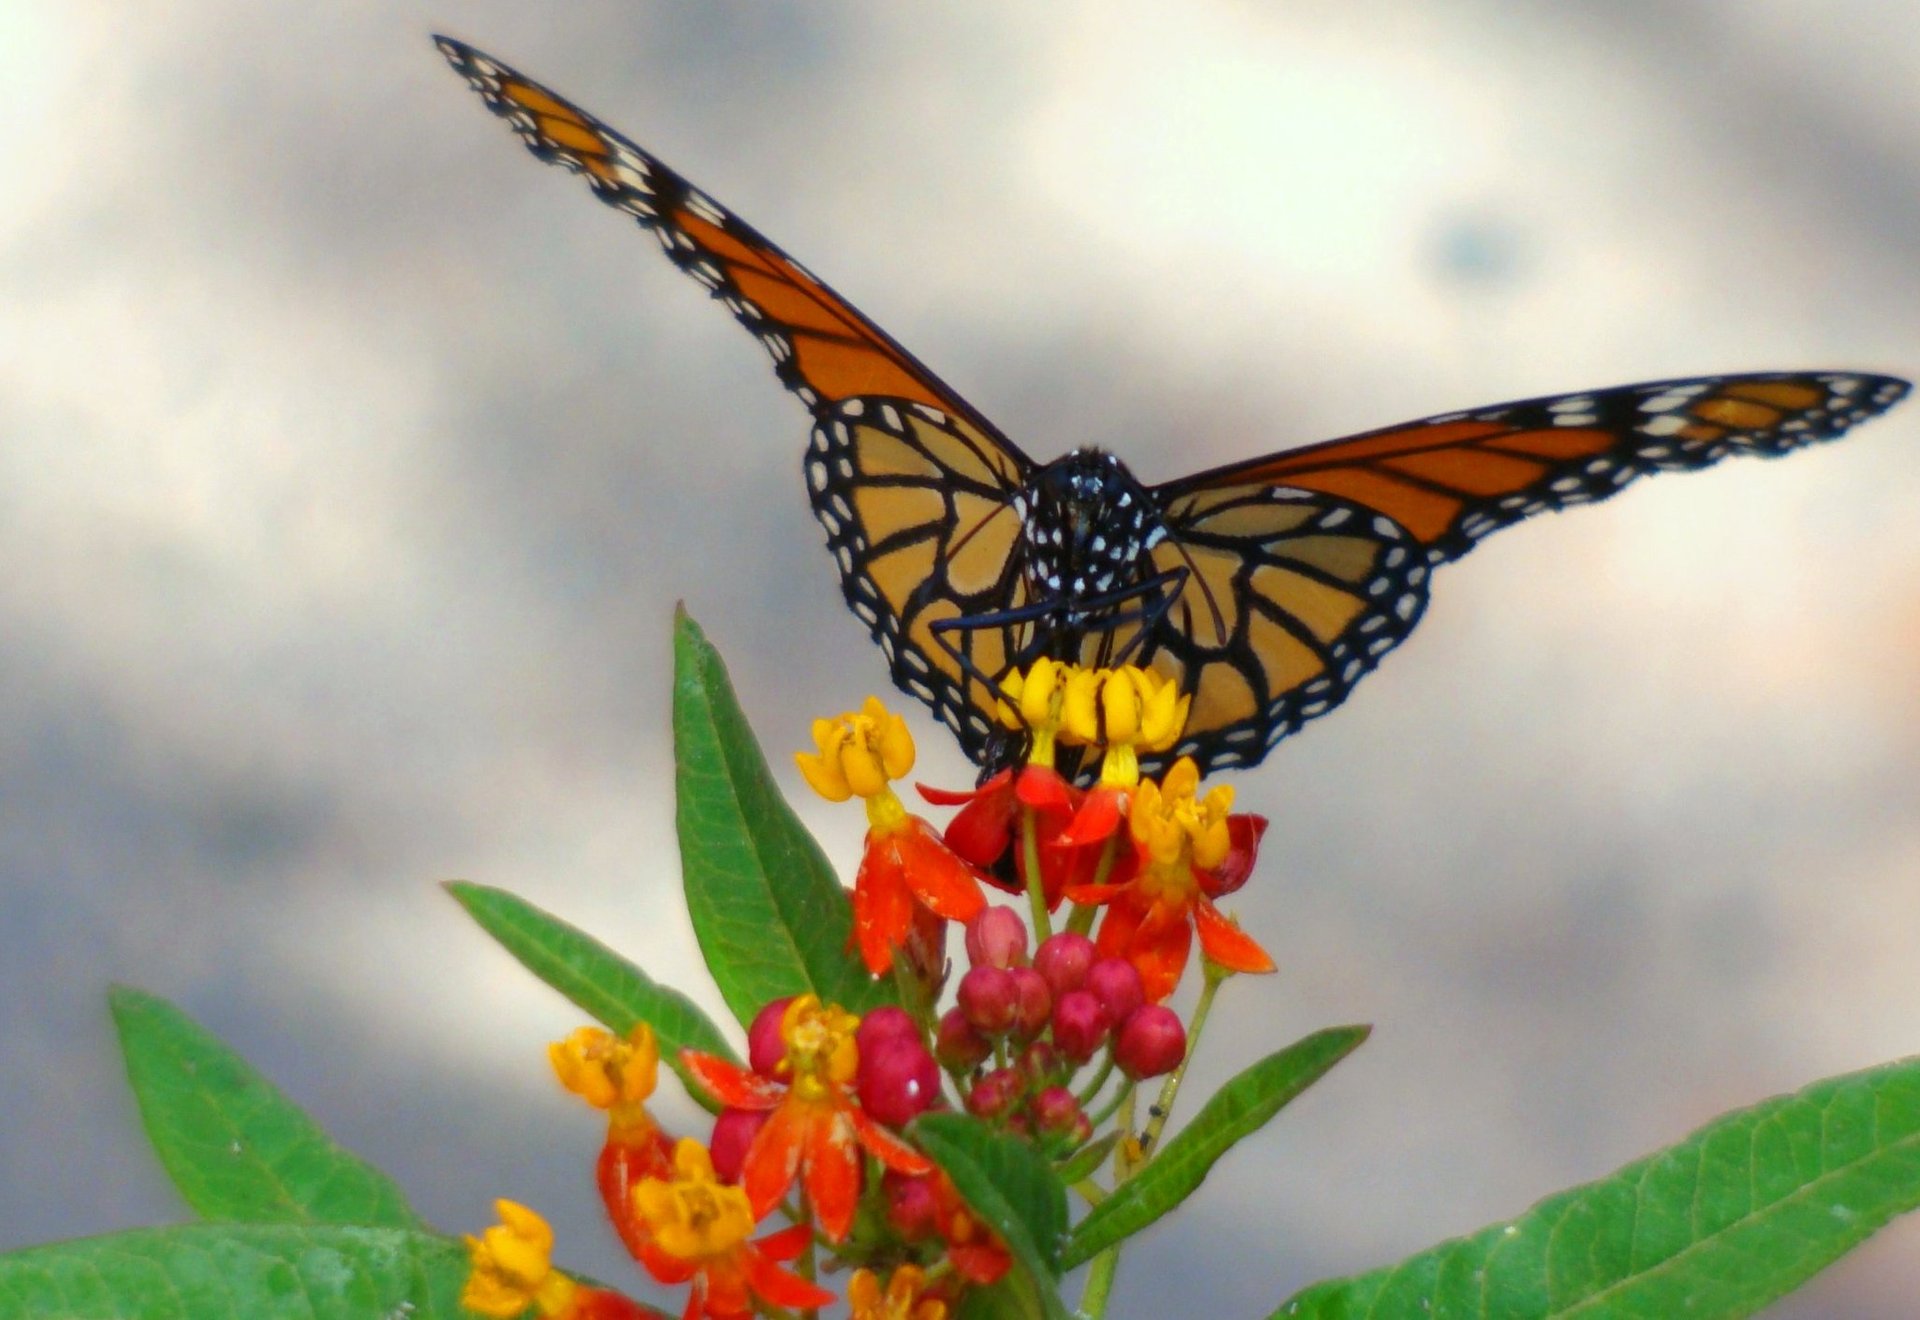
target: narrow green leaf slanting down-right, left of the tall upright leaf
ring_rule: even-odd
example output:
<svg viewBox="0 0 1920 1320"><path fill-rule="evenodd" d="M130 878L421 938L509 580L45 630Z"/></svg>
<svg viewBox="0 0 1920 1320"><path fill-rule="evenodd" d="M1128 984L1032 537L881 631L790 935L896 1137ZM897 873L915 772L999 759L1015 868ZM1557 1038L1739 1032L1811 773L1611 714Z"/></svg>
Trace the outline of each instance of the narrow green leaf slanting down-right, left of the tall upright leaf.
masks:
<svg viewBox="0 0 1920 1320"><path fill-rule="evenodd" d="M595 940L580 927L566 925L534 904L486 884L453 881L447 892L480 927L520 959L528 971L578 1003L616 1036L645 1023L660 1044L660 1059L685 1082L682 1049L716 1053L739 1063L712 1019L687 996L659 984L634 963ZM687 1092L705 1101L697 1086Z"/></svg>

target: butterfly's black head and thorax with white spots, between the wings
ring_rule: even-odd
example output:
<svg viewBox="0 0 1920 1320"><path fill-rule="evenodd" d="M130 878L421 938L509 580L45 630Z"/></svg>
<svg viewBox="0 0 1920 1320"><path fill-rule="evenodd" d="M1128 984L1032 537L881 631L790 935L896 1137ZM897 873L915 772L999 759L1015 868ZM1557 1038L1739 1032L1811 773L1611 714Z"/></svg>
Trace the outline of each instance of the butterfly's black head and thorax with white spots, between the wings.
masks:
<svg viewBox="0 0 1920 1320"><path fill-rule="evenodd" d="M1027 583L1039 599L1079 602L1125 589L1165 535L1146 487L1098 449L1048 462L1021 503Z"/></svg>

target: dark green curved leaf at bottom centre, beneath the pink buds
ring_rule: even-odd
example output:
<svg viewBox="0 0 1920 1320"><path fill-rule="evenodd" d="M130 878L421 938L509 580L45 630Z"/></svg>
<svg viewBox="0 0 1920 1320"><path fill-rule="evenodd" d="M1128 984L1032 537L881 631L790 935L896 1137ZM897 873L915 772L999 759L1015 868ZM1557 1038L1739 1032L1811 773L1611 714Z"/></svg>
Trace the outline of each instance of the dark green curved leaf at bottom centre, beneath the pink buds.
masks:
<svg viewBox="0 0 1920 1320"><path fill-rule="evenodd" d="M1029 1314L1066 1320L1054 1280L1068 1226L1068 1190L1046 1159L1020 1138L958 1113L922 1115L908 1134L947 1170L966 1203L1031 1276L1039 1312Z"/></svg>

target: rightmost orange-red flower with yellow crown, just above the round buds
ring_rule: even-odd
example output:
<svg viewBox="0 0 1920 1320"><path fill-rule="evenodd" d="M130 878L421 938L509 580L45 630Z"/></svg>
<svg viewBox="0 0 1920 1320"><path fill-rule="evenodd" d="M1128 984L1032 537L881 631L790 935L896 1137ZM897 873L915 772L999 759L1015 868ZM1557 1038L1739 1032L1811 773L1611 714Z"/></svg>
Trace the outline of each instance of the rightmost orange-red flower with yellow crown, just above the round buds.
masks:
<svg viewBox="0 0 1920 1320"><path fill-rule="evenodd" d="M1267 821L1231 815L1233 789L1198 798L1200 771L1181 758L1160 785L1142 783L1129 812L1140 871L1119 884L1083 884L1077 904L1108 904L1094 948L1125 957L1146 998L1165 1000L1187 969L1194 931L1210 959L1231 971L1273 971L1273 959L1213 906L1246 883Z"/></svg>

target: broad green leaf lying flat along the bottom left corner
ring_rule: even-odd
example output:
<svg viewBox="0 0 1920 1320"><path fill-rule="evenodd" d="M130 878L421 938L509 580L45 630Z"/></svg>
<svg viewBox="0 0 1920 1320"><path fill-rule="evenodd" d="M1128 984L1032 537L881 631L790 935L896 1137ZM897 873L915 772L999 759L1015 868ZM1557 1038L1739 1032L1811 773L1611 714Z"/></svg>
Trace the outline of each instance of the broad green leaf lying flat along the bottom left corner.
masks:
<svg viewBox="0 0 1920 1320"><path fill-rule="evenodd" d="M0 1257L0 1316L453 1320L457 1241L397 1228L184 1224Z"/></svg>

